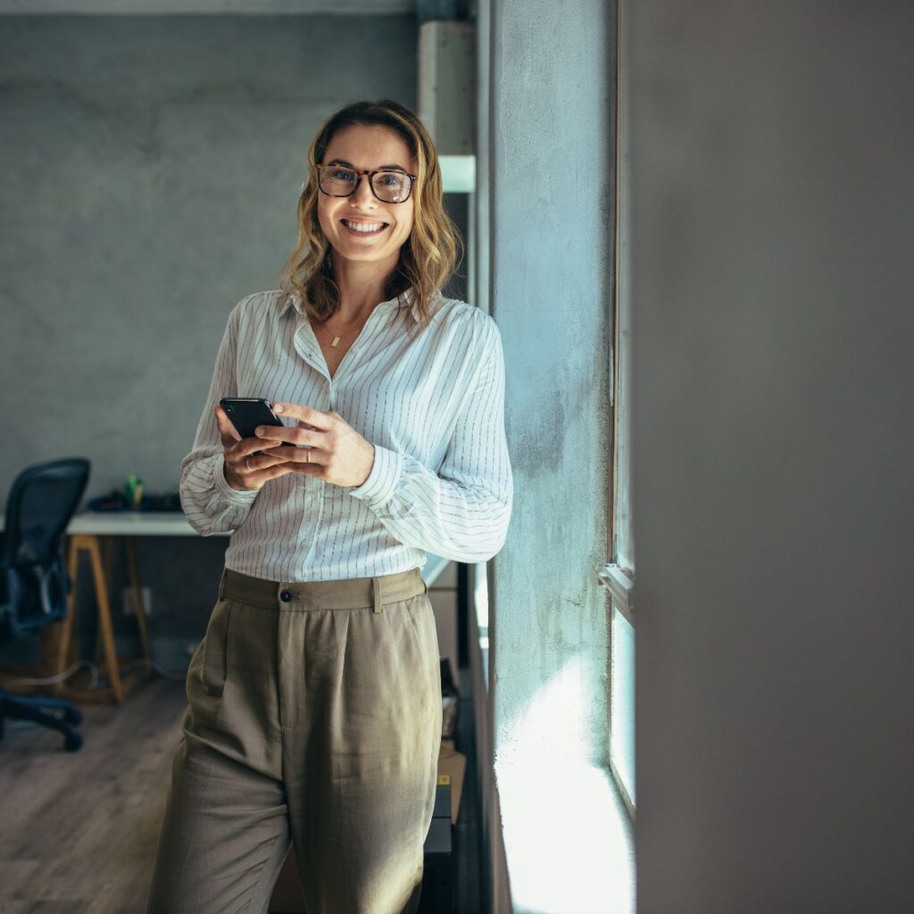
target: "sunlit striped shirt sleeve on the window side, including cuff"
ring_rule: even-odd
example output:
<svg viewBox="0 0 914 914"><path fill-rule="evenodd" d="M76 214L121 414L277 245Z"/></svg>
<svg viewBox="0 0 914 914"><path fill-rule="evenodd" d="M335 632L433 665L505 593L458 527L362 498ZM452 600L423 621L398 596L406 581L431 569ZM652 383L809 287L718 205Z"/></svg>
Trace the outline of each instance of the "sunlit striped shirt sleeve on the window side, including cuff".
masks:
<svg viewBox="0 0 914 914"><path fill-rule="evenodd" d="M505 544L514 499L505 440L505 355L497 324L490 320L486 326L438 473L376 444L366 481L349 490L400 542L461 562L485 561Z"/></svg>

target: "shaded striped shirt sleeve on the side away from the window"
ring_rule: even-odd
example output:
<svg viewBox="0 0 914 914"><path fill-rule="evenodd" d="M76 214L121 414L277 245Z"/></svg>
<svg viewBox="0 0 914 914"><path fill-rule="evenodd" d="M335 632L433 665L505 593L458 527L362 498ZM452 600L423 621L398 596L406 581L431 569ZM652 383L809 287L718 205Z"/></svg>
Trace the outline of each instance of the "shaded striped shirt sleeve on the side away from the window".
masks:
<svg viewBox="0 0 914 914"><path fill-rule="evenodd" d="M257 492L233 489L225 478L222 441L213 409L222 397L236 394L236 353L238 317L241 303L228 317L225 334L216 356L216 367L209 385L207 401L197 423L194 446L181 462L179 493L187 521L197 533L237 530L250 513Z"/></svg>

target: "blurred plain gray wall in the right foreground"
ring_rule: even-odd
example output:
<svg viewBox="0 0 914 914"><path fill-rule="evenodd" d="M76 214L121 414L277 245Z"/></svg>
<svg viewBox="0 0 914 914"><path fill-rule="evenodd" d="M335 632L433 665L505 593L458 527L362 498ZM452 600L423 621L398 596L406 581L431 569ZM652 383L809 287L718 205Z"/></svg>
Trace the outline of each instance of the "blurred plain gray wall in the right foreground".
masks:
<svg viewBox="0 0 914 914"><path fill-rule="evenodd" d="M639 910L909 911L914 9L629 6Z"/></svg>

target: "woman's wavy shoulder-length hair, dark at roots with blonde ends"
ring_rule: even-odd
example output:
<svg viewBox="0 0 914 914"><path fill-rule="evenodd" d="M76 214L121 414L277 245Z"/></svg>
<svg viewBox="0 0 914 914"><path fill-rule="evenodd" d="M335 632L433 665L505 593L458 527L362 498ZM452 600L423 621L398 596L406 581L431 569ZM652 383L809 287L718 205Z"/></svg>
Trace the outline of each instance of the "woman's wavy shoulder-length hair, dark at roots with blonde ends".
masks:
<svg viewBox="0 0 914 914"><path fill-rule="evenodd" d="M460 232L444 208L441 165L431 137L419 118L389 99L356 101L332 114L308 149L308 175L298 200L298 239L282 267L280 285L315 322L326 320L339 307L331 245L317 217L317 169L335 133L351 126L389 127L403 138L417 163L412 188L414 216L409 238L400 248L397 267L385 283L385 301L408 303L410 292L420 316L428 324L431 303L452 278L463 256ZM405 309L404 309L405 310Z"/></svg>

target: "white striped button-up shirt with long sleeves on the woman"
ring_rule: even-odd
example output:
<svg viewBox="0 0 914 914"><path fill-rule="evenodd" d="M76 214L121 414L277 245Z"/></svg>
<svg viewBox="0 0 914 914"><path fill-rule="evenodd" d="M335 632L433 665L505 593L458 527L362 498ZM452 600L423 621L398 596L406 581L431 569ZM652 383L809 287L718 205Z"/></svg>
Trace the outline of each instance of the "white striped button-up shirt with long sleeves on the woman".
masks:
<svg viewBox="0 0 914 914"><path fill-rule="evenodd" d="M228 317L181 504L203 536L234 531L226 567L276 581L392 574L425 552L492 558L514 494L505 441L505 356L494 320L439 295L411 339L397 299L378 304L331 379L314 329L285 292L255 292ZM418 321L413 308L404 315ZM334 410L375 445L358 486L285 473L259 492L231 488L213 409L263 397Z"/></svg>

